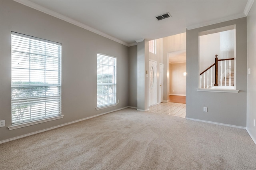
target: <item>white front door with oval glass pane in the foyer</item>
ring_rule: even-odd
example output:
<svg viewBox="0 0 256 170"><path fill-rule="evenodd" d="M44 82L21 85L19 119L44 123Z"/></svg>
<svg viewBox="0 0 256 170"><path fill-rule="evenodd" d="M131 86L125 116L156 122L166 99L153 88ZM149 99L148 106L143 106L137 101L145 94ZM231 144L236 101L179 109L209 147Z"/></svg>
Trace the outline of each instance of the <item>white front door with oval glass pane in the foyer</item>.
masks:
<svg viewBox="0 0 256 170"><path fill-rule="evenodd" d="M149 60L148 106L156 105L156 62Z"/></svg>

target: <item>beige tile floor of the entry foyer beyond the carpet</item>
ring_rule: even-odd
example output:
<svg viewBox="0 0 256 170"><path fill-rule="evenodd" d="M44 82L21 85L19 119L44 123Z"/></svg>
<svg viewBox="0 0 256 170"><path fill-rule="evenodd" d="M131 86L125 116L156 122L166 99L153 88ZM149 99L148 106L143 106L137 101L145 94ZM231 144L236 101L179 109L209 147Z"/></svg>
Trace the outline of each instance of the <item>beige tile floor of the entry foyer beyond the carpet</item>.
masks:
<svg viewBox="0 0 256 170"><path fill-rule="evenodd" d="M152 113L159 113L164 115L171 115L177 117L186 117L186 104L183 103L160 103L149 107L149 111Z"/></svg>

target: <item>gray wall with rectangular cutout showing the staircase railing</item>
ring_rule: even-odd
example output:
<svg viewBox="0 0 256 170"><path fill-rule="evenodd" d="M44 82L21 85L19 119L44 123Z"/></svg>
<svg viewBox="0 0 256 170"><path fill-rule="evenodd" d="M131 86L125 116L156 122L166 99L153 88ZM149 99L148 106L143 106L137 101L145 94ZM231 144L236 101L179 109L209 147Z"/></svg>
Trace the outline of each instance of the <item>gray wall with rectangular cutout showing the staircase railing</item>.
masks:
<svg viewBox="0 0 256 170"><path fill-rule="evenodd" d="M236 24L236 89L239 93L196 91L198 33L233 24ZM186 31L186 117L246 127L246 43L246 17ZM208 107L207 113L203 107Z"/></svg>

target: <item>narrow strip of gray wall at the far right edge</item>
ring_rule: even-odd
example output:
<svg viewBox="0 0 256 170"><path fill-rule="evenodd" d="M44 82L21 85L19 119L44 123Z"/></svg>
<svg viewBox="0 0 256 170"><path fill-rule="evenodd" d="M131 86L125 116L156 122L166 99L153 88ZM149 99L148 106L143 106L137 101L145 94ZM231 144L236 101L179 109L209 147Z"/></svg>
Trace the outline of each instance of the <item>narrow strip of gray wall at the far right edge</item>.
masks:
<svg viewBox="0 0 256 170"><path fill-rule="evenodd" d="M253 126L253 119L256 120L256 3L254 2L249 15L247 16L247 63L251 74L247 77L247 125L246 129L256 143L256 127Z"/></svg>

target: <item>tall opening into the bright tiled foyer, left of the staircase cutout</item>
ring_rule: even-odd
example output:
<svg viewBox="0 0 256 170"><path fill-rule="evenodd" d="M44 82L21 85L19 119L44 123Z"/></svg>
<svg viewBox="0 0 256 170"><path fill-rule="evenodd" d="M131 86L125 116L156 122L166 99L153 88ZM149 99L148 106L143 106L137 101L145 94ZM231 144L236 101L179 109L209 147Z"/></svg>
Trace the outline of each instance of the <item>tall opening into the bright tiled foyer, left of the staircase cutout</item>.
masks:
<svg viewBox="0 0 256 170"><path fill-rule="evenodd" d="M149 112L186 117L186 33L157 39L149 44L156 45L154 52L149 51ZM167 62L166 58L167 57ZM157 61L156 85L157 101L152 103L150 97L151 61ZM167 83L164 83L164 76L167 75ZM162 78L163 77L163 78ZM150 84L151 82L151 84ZM166 82L166 81L165 81ZM163 92L165 91L165 92ZM165 98L164 98L165 96ZM167 97L167 99L166 99ZM155 97L154 97L155 99Z"/></svg>

